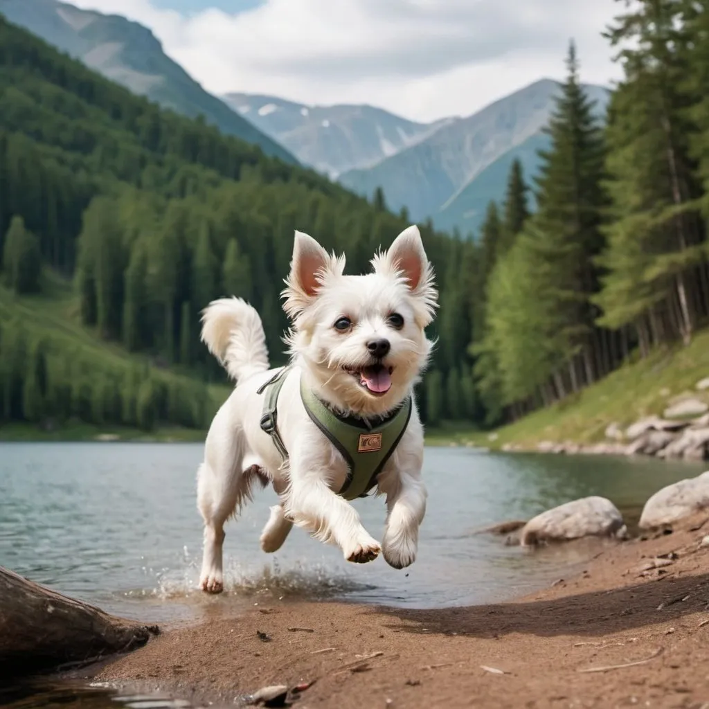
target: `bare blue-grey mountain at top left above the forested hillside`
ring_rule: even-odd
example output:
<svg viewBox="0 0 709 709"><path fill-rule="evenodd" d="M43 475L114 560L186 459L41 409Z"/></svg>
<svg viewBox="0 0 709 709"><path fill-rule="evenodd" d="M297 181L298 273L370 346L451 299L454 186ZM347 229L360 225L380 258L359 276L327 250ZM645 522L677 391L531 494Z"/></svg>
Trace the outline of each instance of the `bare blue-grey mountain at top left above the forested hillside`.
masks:
<svg viewBox="0 0 709 709"><path fill-rule="evenodd" d="M255 143L267 155L297 162L284 147L208 94L142 25L58 0L0 0L0 13L134 94L190 118L202 114L223 133Z"/></svg>

